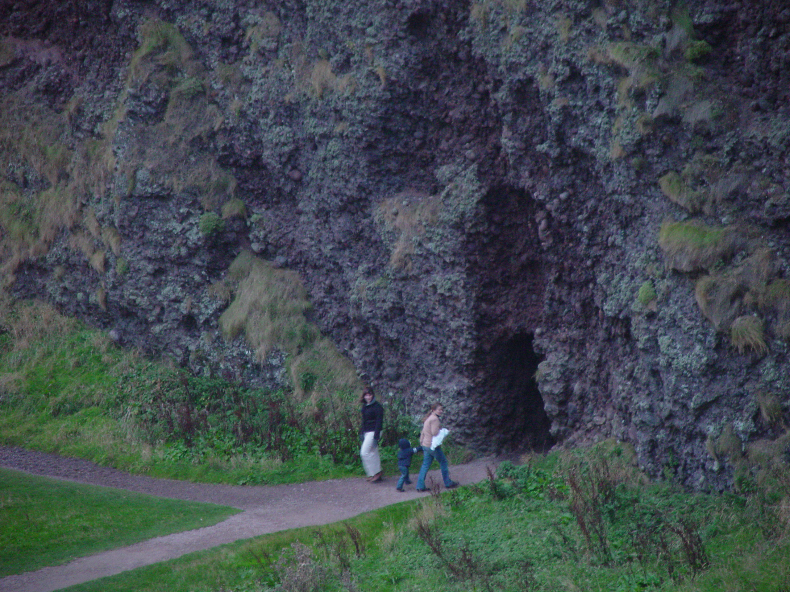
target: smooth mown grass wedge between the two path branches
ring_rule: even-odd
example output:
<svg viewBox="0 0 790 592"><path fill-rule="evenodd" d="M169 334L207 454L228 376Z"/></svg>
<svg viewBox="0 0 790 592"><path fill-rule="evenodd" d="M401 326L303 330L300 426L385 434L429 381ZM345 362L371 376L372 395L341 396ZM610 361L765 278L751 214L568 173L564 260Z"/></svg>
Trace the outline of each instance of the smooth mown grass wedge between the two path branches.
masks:
<svg viewBox="0 0 790 592"><path fill-rule="evenodd" d="M0 577L210 526L238 511L0 469Z"/></svg>

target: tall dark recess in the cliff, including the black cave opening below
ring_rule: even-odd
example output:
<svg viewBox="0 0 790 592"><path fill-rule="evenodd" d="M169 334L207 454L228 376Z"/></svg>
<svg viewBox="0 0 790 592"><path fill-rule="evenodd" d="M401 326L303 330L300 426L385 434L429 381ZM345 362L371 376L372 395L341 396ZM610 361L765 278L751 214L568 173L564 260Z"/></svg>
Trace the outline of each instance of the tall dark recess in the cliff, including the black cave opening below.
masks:
<svg viewBox="0 0 790 592"><path fill-rule="evenodd" d="M476 388L485 417L470 432L492 451L545 450L555 440L535 380L534 329L544 318L547 281L539 208L511 185L491 187L482 204L485 221L468 249L479 281Z"/></svg>

